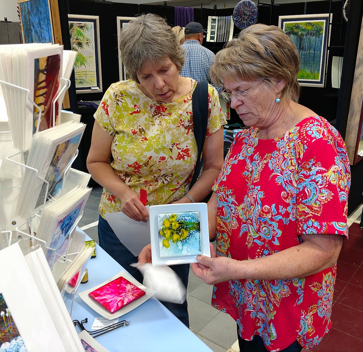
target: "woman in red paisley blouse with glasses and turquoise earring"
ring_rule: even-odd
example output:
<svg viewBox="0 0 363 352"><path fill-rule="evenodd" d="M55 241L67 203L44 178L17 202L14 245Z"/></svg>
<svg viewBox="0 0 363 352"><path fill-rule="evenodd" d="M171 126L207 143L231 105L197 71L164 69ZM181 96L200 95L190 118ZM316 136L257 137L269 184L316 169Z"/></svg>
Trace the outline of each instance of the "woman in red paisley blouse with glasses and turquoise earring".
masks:
<svg viewBox="0 0 363 352"><path fill-rule="evenodd" d="M256 24L211 67L250 128L234 138L208 202L216 254L191 265L236 320L241 352L310 349L331 326L350 167L337 130L298 104L299 65L284 31Z"/></svg>

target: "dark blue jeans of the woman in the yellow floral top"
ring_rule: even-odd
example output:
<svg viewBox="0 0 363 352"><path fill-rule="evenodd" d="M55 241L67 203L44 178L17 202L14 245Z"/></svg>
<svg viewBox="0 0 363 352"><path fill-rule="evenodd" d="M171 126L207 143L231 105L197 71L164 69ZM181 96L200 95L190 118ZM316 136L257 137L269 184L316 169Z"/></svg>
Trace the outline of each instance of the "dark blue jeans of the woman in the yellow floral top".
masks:
<svg viewBox="0 0 363 352"><path fill-rule="evenodd" d="M109 223L99 215L98 219L98 240L99 245L113 259L116 260L126 271L128 271L138 282L143 282L142 274L136 268L130 266L137 262L134 256L117 238ZM172 269L179 276L185 288L188 286L189 264L173 265ZM161 301L160 301L161 302ZM182 304L161 302L168 308L184 325L189 328L188 304L185 300Z"/></svg>

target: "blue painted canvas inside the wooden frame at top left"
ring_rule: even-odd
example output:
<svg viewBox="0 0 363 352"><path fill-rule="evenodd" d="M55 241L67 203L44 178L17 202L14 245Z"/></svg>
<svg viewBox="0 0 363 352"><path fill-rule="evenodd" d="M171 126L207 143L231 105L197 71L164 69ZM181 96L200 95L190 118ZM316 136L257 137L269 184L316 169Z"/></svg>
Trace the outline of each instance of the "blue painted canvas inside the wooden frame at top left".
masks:
<svg viewBox="0 0 363 352"><path fill-rule="evenodd" d="M23 43L54 43L49 0L18 0Z"/></svg>

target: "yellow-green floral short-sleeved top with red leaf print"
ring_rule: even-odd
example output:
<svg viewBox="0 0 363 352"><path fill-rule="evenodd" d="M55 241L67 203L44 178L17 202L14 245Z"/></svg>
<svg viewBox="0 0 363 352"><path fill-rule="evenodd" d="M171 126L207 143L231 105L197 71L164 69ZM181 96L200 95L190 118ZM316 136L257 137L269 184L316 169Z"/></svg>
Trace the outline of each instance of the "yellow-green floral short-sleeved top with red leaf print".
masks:
<svg viewBox="0 0 363 352"><path fill-rule="evenodd" d="M132 190L147 191L147 204L179 200L189 189L197 158L193 132L192 89L172 102L157 102L145 96L132 80L112 84L94 117L114 139L111 166ZM227 121L218 93L208 85L208 126L206 137ZM121 201L103 190L99 212L121 210Z"/></svg>

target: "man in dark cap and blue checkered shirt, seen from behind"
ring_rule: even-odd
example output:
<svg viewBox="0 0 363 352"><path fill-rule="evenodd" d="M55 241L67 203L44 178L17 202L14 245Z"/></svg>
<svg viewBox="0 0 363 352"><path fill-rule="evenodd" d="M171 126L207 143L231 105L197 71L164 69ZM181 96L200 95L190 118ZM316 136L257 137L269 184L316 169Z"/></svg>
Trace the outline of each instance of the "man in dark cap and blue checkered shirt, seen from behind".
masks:
<svg viewBox="0 0 363 352"><path fill-rule="evenodd" d="M180 76L190 77L196 81L208 81L209 67L212 64L214 53L205 48L202 43L208 32L198 22L189 22L184 28L185 42L181 47L185 50L185 62L181 69ZM221 88L214 85L218 93Z"/></svg>

